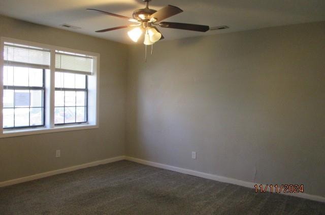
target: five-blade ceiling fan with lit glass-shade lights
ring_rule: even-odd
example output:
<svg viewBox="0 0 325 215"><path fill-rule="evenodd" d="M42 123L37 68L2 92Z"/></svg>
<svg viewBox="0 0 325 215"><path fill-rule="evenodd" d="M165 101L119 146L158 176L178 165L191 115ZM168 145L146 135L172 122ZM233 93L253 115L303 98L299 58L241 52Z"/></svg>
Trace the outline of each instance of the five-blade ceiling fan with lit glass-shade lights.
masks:
<svg viewBox="0 0 325 215"><path fill-rule="evenodd" d="M145 45L152 45L155 42L164 39L164 36L161 34L161 32L158 30L156 26L165 27L165 28L182 29L182 30L193 30L193 31L200 31L200 32L206 32L210 28L207 25L186 24L186 23L178 23L178 22L161 22L164 19L179 14L183 11L178 7L172 5L168 5L156 11L149 8L150 1L151 0L143 0L143 2L146 3L146 8L135 10L133 12L133 18L121 16L118 14L113 14L110 12L101 11L97 9L87 9L87 10L97 11L106 15L115 16L115 17L127 19L128 21L134 22L134 24L107 28L103 30L97 30L95 32L107 32L111 30L133 27L132 30L127 32L129 38L131 38L131 40L133 40L134 42L138 42L141 35L144 33Z"/></svg>

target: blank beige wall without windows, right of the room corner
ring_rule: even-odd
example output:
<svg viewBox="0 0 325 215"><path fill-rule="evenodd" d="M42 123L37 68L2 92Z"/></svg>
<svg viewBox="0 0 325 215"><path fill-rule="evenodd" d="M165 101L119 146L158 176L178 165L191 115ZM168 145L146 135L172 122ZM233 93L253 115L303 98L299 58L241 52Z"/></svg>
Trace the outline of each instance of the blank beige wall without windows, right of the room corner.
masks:
<svg viewBox="0 0 325 215"><path fill-rule="evenodd" d="M127 155L325 196L324 39L318 22L165 41L147 63L132 46Z"/></svg>

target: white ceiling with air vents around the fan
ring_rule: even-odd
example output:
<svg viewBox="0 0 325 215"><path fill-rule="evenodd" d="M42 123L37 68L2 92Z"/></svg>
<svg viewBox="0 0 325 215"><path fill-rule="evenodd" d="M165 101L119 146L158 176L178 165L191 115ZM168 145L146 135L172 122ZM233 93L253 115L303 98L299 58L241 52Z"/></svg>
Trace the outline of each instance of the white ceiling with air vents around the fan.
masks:
<svg viewBox="0 0 325 215"><path fill-rule="evenodd" d="M175 40L200 35L257 29L270 26L325 20L324 0L152 0L150 8L158 10L174 5L184 12L165 21L228 25L230 29L206 33L160 28L165 40ZM81 27L69 29L107 40L131 44L127 29L96 33L109 27L128 24L127 20L86 11L94 8L128 17L136 9L144 8L142 0L0 0L0 14L29 22L60 27L67 23ZM67 29L67 28L64 28Z"/></svg>

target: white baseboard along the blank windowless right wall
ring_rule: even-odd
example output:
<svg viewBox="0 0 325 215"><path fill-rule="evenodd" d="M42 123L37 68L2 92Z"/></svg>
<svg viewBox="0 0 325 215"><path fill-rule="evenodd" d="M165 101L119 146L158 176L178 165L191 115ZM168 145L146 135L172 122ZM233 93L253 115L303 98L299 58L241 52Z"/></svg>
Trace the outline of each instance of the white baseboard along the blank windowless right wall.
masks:
<svg viewBox="0 0 325 215"><path fill-rule="evenodd" d="M198 177L203 177L203 178L207 178L207 179L218 181L218 182L239 185L239 186L243 186L243 187L247 187L247 188L251 188L251 189L255 189L254 185L256 185L256 184L258 186L260 185L258 183L245 182L245 181L237 180L237 179L230 178L230 177L223 177L223 176L219 176L219 175L215 175L215 174L194 171L191 169L179 168L176 166L170 166L170 165L166 165L166 164L162 164L162 163L155 163L155 162L146 161L146 160L128 157L128 156L125 156L125 160L133 161L136 163L141 163L141 164L148 165L148 166L154 166L154 167L158 167L158 168L162 168L162 169L168 169L168 170L175 171L175 172L180 172L180 173L185 173L185 174L194 175L194 176L198 176ZM266 187L266 185L263 185L263 187ZM282 193L281 192L280 194L309 199L309 200L313 200L313 201L325 202L325 197L310 195L307 193Z"/></svg>

